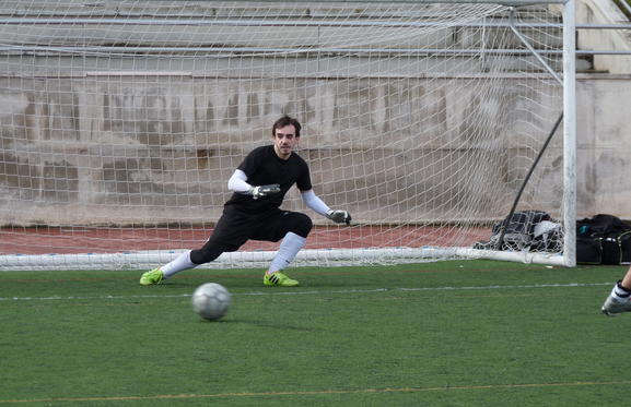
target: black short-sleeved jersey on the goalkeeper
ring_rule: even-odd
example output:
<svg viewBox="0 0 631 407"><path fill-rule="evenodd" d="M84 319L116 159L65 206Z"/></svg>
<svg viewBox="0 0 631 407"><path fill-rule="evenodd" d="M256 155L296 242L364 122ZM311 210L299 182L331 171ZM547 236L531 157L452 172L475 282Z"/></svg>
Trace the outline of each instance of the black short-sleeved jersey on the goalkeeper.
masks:
<svg viewBox="0 0 631 407"><path fill-rule="evenodd" d="M247 183L253 187L280 184L281 192L255 200L252 195L233 193L225 207L234 207L248 213L262 213L282 204L287 191L295 183L299 190L312 189L309 170L306 161L296 153L288 159L280 158L273 145L253 149L237 167L247 176Z"/></svg>

